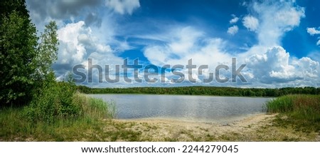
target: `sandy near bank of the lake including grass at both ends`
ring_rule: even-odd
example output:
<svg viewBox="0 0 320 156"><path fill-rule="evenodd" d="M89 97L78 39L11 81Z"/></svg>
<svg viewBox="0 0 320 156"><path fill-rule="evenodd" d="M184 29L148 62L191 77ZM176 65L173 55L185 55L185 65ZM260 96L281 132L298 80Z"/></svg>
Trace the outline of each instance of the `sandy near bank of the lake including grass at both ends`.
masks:
<svg viewBox="0 0 320 156"><path fill-rule="evenodd" d="M319 111L320 95L289 96L284 100L297 101L295 97L298 97L301 103L307 102L306 105L311 105L311 108L306 108L314 109L315 113ZM274 101L270 103L277 103L277 100ZM289 100L289 103L291 102ZM311 118L314 120L297 119L292 115L296 111L259 113L231 123L181 122L150 118L82 118L60 120L54 125L28 123L19 117L22 111L21 108L1 110L0 141L320 141L319 131L316 129L319 128L318 116ZM308 123L305 123L306 121ZM296 125L297 122L303 123ZM311 124L317 126L310 126Z"/></svg>

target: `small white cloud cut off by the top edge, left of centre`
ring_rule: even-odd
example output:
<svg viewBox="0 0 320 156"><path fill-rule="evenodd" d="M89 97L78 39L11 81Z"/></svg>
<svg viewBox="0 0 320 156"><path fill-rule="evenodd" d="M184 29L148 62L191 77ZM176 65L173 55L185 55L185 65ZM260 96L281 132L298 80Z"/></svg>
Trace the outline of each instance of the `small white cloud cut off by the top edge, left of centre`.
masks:
<svg viewBox="0 0 320 156"><path fill-rule="evenodd" d="M139 0L106 0L105 5L119 14L132 14L140 7Z"/></svg>

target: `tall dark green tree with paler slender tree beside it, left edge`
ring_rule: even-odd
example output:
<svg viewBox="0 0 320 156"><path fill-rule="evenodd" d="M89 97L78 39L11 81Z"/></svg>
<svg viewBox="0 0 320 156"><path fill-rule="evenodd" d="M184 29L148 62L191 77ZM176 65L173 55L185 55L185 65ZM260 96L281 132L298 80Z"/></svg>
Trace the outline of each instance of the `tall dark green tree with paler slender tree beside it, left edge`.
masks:
<svg viewBox="0 0 320 156"><path fill-rule="evenodd" d="M26 105L44 82L55 80L51 66L57 59L58 28L50 22L38 43L24 0L0 6L0 106Z"/></svg>

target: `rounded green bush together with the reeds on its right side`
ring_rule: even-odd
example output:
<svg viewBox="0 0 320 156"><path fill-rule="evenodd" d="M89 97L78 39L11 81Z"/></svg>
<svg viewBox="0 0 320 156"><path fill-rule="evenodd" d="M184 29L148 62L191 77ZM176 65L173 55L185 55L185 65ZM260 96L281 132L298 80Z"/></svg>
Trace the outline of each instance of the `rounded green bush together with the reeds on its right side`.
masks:
<svg viewBox="0 0 320 156"><path fill-rule="evenodd" d="M26 107L24 116L33 123L56 123L62 119L114 118L115 113L113 103L76 93L73 83L53 81Z"/></svg>

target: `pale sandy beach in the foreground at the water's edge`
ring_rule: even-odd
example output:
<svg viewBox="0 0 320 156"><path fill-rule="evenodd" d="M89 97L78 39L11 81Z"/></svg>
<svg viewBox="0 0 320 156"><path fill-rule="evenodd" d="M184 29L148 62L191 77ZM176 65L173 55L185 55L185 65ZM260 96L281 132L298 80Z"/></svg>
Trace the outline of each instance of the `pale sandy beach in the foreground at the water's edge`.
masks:
<svg viewBox="0 0 320 156"><path fill-rule="evenodd" d="M166 119L113 120L141 132L142 141L319 141L319 134L274 126L276 114L257 114L232 123L196 123ZM122 140L117 140L122 141Z"/></svg>

